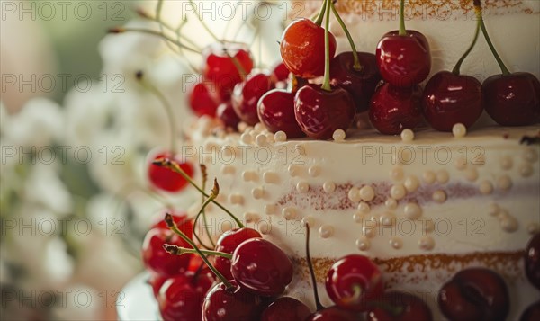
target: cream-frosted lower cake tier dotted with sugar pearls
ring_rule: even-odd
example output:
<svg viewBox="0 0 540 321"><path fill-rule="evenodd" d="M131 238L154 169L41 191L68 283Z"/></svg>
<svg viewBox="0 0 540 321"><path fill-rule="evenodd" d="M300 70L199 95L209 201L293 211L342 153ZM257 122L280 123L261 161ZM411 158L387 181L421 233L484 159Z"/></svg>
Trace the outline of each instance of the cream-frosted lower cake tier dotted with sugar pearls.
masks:
<svg viewBox="0 0 540 321"><path fill-rule="evenodd" d="M412 140L363 130L342 141L277 142L260 126L214 129L199 120L182 155L206 165L220 184L218 200L293 259L287 293L311 308L306 222L324 305L331 303L324 277L347 254L372 258L386 288L425 299L436 319L438 291L467 267L504 278L510 319L540 299L523 268L527 242L540 230L540 146L527 144L537 127L461 138L425 129ZM234 227L215 206L207 218L214 236Z"/></svg>

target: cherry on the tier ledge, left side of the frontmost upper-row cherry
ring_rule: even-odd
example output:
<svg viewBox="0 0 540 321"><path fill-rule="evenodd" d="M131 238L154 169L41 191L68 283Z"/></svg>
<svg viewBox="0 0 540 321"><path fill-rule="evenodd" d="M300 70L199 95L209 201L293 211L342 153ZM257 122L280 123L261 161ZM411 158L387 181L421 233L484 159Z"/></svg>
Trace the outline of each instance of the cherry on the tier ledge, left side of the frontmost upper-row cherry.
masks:
<svg viewBox="0 0 540 321"><path fill-rule="evenodd" d="M258 101L258 118L266 129L275 133L284 131L287 138L305 136L294 118L294 94L283 89L273 89Z"/></svg>

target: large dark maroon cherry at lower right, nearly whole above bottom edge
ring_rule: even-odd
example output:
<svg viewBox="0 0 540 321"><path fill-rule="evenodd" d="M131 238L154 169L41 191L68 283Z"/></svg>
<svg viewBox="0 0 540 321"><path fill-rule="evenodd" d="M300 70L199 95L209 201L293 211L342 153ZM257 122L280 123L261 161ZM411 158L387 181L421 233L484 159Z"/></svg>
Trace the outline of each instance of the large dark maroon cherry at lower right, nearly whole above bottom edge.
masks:
<svg viewBox="0 0 540 321"><path fill-rule="evenodd" d="M499 274L485 268L457 272L438 293L438 306L451 320L505 320L509 290Z"/></svg>

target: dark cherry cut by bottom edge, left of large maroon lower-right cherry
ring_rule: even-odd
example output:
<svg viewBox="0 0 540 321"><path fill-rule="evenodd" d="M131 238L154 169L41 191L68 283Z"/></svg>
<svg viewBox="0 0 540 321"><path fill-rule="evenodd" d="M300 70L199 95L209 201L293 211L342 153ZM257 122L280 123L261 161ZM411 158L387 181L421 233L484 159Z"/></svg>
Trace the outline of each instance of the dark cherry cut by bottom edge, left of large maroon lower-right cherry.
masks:
<svg viewBox="0 0 540 321"><path fill-rule="evenodd" d="M369 321L431 321L431 309L419 297L401 291L388 291L367 310Z"/></svg>

